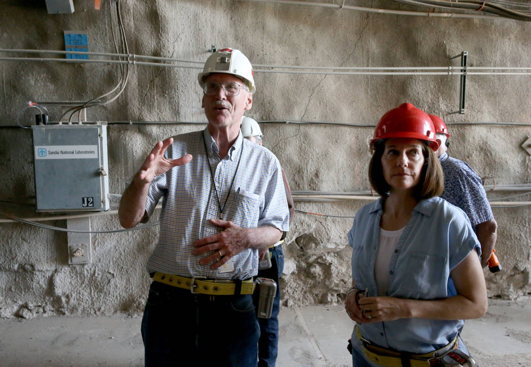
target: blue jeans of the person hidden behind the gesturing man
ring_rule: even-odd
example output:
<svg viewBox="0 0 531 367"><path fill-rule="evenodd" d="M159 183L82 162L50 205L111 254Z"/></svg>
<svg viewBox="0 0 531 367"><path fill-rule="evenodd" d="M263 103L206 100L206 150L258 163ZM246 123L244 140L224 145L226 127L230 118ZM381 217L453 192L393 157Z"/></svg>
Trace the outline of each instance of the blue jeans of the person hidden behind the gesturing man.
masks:
<svg viewBox="0 0 531 367"><path fill-rule="evenodd" d="M279 279L284 270L284 254L282 246L269 249L271 252L271 268L258 271L258 276L275 280L277 294L273 300L273 312L269 319L258 319L260 324L260 339L258 341L258 366L275 367L278 355L278 313L280 311L280 283ZM265 254L267 256L267 254ZM258 307L258 292L254 294L254 304Z"/></svg>

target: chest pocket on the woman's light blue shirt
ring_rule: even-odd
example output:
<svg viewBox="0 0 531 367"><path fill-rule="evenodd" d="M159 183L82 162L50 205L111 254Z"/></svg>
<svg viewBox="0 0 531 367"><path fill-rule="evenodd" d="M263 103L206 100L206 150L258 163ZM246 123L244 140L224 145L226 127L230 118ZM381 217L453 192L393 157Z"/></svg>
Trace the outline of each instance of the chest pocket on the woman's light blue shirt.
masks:
<svg viewBox="0 0 531 367"><path fill-rule="evenodd" d="M409 255L407 261L400 262L404 267L400 272L397 271L395 278L395 282L400 284L398 288L405 291L400 296L418 300L447 296L447 258L415 251Z"/></svg>

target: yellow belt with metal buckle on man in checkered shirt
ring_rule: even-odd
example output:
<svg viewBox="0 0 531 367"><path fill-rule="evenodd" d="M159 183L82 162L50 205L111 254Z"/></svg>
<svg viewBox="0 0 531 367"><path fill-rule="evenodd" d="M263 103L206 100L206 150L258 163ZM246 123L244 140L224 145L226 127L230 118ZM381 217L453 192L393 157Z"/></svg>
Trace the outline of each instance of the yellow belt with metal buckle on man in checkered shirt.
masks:
<svg viewBox="0 0 531 367"><path fill-rule="evenodd" d="M190 289L192 293L228 296L233 294L253 294L253 279L249 280L224 280L205 279L205 277L186 278L180 275L164 274L156 271L153 280L177 288ZM239 288L239 290L238 290Z"/></svg>

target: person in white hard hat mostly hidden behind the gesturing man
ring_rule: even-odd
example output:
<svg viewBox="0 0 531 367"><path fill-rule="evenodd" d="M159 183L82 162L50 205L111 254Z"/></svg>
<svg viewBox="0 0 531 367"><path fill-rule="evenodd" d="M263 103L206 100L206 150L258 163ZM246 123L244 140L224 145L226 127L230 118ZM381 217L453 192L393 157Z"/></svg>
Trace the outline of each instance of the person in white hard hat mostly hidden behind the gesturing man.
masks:
<svg viewBox="0 0 531 367"><path fill-rule="evenodd" d="M260 130L260 125L253 118L244 116L242 118L242 134L247 140L250 140L259 146L263 147L263 134ZM262 149L256 146L256 149ZM282 170L282 179L284 180L284 191L286 191L286 201L289 208L289 223L291 224L293 215L295 214L295 207L293 205L292 194L289 190L288 181L284 170ZM260 266L258 268L258 277L269 278L275 280L277 283L277 293L273 299L273 311L269 319L259 318L260 324L260 340L258 342L258 366L259 367L275 367L278 355L278 313L280 311L280 283L279 279L284 270L284 254L282 254L281 240L269 249L260 249ZM271 260L270 264L268 261ZM268 267L263 267L263 263L268 263ZM254 295L254 303L258 308L259 297Z"/></svg>

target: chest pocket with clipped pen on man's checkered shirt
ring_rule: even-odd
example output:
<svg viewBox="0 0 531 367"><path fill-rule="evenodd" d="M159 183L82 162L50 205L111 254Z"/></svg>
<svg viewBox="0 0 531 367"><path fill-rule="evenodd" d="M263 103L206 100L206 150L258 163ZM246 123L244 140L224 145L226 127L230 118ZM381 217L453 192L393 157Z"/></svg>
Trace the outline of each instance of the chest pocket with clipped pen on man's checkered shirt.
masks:
<svg viewBox="0 0 531 367"><path fill-rule="evenodd" d="M245 192L246 195L239 192L233 192L227 202L227 218L232 220L239 226L245 228L254 228L258 226L260 219L260 203L259 195ZM252 194L252 195L251 195Z"/></svg>

